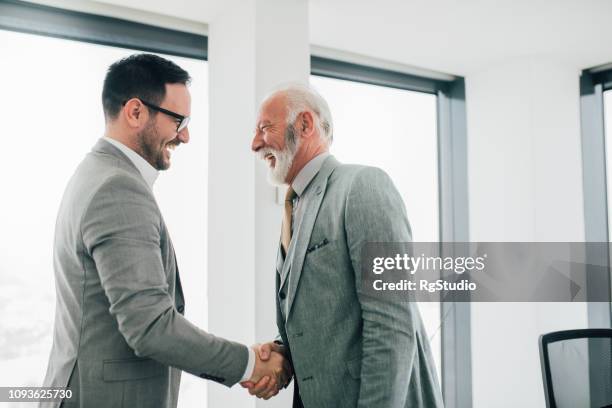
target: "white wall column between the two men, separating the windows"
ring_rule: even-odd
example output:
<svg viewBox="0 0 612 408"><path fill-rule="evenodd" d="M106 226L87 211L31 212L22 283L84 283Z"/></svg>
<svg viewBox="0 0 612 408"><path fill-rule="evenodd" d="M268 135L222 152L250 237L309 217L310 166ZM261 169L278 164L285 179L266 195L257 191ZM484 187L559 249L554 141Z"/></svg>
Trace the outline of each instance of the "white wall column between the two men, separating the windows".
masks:
<svg viewBox="0 0 612 408"><path fill-rule="evenodd" d="M251 152L257 107L280 82L308 81L307 2L228 2L209 24L209 326L251 345L277 334L275 256L281 207ZM292 387L269 400L209 383L209 407L287 407Z"/></svg>

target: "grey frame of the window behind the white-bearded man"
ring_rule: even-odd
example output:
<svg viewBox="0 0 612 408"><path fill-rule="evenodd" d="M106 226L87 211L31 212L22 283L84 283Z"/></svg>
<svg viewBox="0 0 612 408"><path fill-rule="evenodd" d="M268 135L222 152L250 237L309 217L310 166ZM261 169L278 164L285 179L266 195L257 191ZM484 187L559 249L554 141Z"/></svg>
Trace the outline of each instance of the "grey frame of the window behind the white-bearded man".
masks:
<svg viewBox="0 0 612 408"><path fill-rule="evenodd" d="M317 55L310 63L312 75L437 96L440 241L468 242L465 80L428 78ZM471 309L469 299L464 300L442 302L440 307L441 382L449 408L472 406Z"/></svg>

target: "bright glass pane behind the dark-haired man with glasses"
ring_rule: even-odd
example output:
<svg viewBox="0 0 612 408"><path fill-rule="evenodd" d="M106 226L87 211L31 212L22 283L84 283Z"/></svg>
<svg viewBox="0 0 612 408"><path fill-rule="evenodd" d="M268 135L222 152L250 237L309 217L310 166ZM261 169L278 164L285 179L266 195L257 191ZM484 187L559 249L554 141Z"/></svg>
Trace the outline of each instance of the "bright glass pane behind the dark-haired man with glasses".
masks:
<svg viewBox="0 0 612 408"><path fill-rule="evenodd" d="M0 384L39 386L52 341L60 199L77 164L103 135L106 69L134 51L1 30L0 49L2 135L15 148L6 149L0 173ZM155 195L176 247L187 317L206 328L208 67L167 58L193 76L193 120L191 142L173 154ZM205 406L205 387L184 375L180 405Z"/></svg>

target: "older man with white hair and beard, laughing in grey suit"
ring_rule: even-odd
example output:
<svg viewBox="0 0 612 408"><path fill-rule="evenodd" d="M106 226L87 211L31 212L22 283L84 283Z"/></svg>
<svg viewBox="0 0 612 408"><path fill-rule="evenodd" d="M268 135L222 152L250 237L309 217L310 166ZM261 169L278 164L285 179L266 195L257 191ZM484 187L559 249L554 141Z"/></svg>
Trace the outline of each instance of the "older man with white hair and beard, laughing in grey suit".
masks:
<svg viewBox="0 0 612 408"><path fill-rule="evenodd" d="M331 142L331 114L314 90L289 86L262 103L252 150L270 181L289 188L275 273L279 337L260 355L290 358L294 407L442 407L416 304L361 291L363 245L411 240L402 199L382 170L339 163ZM276 393L264 380L244 385Z"/></svg>

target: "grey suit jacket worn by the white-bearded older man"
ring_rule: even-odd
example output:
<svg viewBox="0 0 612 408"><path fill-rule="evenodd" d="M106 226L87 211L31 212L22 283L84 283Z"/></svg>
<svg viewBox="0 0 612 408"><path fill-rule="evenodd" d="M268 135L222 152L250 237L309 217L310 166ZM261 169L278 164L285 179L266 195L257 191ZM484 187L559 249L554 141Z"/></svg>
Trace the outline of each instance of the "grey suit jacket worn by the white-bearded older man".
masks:
<svg viewBox="0 0 612 408"><path fill-rule="evenodd" d="M442 407L417 305L361 290L362 246L411 240L390 178L330 156L300 200L304 215L285 261L279 251L276 285L277 324L304 407Z"/></svg>

